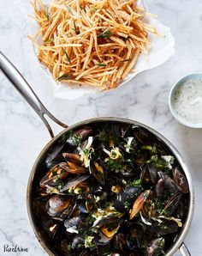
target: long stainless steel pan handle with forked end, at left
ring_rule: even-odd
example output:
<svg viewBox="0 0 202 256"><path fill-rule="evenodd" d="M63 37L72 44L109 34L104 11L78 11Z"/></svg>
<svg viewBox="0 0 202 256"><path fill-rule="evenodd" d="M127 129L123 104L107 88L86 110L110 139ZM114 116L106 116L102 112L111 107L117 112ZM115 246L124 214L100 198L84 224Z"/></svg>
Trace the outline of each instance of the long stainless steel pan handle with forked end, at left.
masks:
<svg viewBox="0 0 202 256"><path fill-rule="evenodd" d="M0 52L0 70L3 71L4 75L7 76L10 82L13 83L14 87L19 91L22 97L27 101L27 103L33 107L33 110L38 113L40 119L44 122L50 136L54 137L54 133L45 119L45 115L50 117L57 125L61 125L64 128L67 128L68 125L63 124L60 120L56 119L43 105L39 100L38 96L34 93L33 89L30 87L28 82L25 80L21 73L15 68L8 58L3 55L3 52Z"/></svg>

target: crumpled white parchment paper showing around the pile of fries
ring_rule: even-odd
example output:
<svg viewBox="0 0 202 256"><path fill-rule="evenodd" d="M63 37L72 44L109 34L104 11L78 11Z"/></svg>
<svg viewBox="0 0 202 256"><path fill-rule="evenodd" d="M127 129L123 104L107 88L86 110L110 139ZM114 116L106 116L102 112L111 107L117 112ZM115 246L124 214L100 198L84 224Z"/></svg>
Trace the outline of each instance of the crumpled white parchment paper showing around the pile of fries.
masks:
<svg viewBox="0 0 202 256"><path fill-rule="evenodd" d="M49 3L49 1L47 2ZM142 3L141 6L142 5L144 5L144 3ZM137 76L140 72L144 70L150 70L160 64L163 64L166 60L169 59L170 56L175 53L175 40L170 32L169 27L164 26L156 18L149 17L148 21L152 26L157 28L158 34L163 34L164 37L161 38L157 35L149 34L149 39L151 40L151 50L149 53L149 57L146 58L144 54L141 54L137 63L135 64L134 71L129 73L126 79L124 79L118 87L124 86L124 84L129 82L132 78L134 78L134 76ZM33 34L34 32L35 31L33 28ZM39 38L39 41L40 40L41 38ZM45 74L50 79L50 83L53 88L53 94L56 98L74 100L80 98L85 94L98 94L102 91L101 89L93 88L90 85L83 85L82 87L80 87L79 85L74 85L74 87L70 88L68 86L68 82L56 82L51 76L50 71L42 64L41 67L43 70L45 70Z"/></svg>

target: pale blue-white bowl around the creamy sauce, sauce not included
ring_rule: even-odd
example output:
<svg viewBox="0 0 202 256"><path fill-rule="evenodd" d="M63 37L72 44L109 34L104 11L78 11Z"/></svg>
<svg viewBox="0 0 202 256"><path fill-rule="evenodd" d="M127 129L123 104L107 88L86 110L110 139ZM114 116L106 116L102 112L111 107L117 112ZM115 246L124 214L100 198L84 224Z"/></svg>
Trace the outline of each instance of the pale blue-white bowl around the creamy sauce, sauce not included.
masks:
<svg viewBox="0 0 202 256"><path fill-rule="evenodd" d="M189 79L202 79L202 73L193 73L193 74L188 74L187 76L183 76L181 77L181 79L178 82L175 82L175 84L173 85L173 87L171 88L170 92L169 92L169 110L172 113L172 115L174 116L174 118L180 122L182 125L186 125L188 127L191 128L202 128L202 123L192 123L187 121L187 119L183 119L181 117L181 115L179 115L174 107L174 93L177 90L177 88L179 88L181 86L182 82L185 82Z"/></svg>

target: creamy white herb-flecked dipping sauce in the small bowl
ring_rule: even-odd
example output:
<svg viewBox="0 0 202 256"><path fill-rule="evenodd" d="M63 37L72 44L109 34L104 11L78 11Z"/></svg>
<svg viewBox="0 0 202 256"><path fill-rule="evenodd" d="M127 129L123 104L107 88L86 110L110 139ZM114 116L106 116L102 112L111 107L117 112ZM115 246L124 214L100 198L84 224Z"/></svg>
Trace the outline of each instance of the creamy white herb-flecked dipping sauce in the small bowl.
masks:
<svg viewBox="0 0 202 256"><path fill-rule="evenodd" d="M202 123L202 79L182 82L173 94L173 107L188 122Z"/></svg>

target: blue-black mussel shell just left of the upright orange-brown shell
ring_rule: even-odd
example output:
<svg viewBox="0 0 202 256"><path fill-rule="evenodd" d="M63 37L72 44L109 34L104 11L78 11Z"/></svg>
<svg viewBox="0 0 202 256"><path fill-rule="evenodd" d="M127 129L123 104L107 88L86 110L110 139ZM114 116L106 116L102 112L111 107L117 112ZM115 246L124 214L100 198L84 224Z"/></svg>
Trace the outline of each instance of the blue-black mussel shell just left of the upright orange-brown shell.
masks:
<svg viewBox="0 0 202 256"><path fill-rule="evenodd" d="M122 192L116 195L115 209L120 212L127 211L141 191L142 188L140 186L126 186Z"/></svg>

